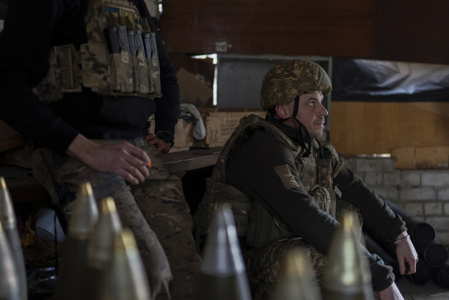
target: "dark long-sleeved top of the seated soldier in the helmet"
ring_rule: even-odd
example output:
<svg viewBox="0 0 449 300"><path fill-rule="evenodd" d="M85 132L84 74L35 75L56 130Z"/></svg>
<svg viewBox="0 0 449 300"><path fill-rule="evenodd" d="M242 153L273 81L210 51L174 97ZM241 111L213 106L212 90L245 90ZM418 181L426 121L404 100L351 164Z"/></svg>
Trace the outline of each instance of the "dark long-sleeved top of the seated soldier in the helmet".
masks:
<svg viewBox="0 0 449 300"><path fill-rule="evenodd" d="M294 141L293 128L278 124ZM286 189L275 168L288 165L296 188ZM335 167L335 166L333 166ZM259 128L234 152L226 167L226 183L248 193L255 200L266 203L303 240L323 254L328 254L338 222L330 214L320 210L305 191L297 175L295 157L286 142L270 130ZM342 191L342 198L358 207L363 224L381 238L393 242L406 231L401 217L391 211L376 193L343 168L334 179ZM366 252L373 275L373 288L378 291L391 285L392 268L384 266L375 254Z"/></svg>

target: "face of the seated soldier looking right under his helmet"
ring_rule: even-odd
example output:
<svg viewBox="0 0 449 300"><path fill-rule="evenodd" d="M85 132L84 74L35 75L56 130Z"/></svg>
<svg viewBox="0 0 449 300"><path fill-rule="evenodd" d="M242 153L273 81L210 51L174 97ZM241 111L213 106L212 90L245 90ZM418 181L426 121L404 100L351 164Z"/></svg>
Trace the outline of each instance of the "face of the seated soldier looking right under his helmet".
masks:
<svg viewBox="0 0 449 300"><path fill-rule="evenodd" d="M323 135L324 117L328 115L328 111L323 107L323 98L323 93L319 90L300 96L296 118L307 128L312 139Z"/></svg>

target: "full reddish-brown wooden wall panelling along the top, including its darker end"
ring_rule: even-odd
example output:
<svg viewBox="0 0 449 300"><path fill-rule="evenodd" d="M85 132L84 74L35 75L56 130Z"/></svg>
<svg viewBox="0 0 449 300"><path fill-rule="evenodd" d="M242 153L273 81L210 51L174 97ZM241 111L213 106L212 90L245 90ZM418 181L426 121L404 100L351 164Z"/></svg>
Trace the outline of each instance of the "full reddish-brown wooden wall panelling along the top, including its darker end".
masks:
<svg viewBox="0 0 449 300"><path fill-rule="evenodd" d="M161 33L170 53L449 64L448 15L447 0L164 0Z"/></svg>

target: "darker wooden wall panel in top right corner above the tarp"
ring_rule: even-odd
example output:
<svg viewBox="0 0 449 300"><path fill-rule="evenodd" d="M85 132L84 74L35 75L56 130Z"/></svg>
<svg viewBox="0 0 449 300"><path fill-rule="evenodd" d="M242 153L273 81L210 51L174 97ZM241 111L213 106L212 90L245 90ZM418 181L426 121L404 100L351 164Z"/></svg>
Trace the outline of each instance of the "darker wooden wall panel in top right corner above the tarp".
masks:
<svg viewBox="0 0 449 300"><path fill-rule="evenodd" d="M375 0L375 58L449 64L449 1Z"/></svg>

